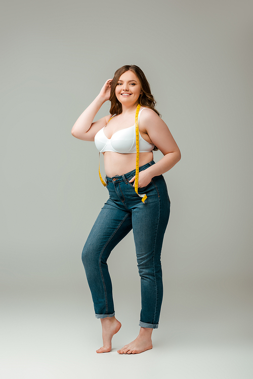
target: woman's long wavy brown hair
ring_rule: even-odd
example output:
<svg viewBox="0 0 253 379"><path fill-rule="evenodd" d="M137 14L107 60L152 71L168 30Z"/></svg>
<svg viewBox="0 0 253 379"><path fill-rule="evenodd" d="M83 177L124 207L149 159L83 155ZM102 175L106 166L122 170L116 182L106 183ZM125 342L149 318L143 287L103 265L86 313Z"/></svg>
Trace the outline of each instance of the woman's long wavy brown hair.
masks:
<svg viewBox="0 0 253 379"><path fill-rule="evenodd" d="M116 97L115 88L117 86L118 79L125 71L133 71L138 77L138 79L140 80L142 93L140 94L140 97L139 97L139 103L141 104L141 106L153 109L153 111L155 111L155 113L157 113L158 116L160 117L161 116L160 113L155 109L156 101L153 95L151 94L149 82L144 72L140 69L140 67L136 66L135 64L122 66L118 68L114 73L114 76L111 82L111 94L110 94L110 99L109 99L111 102L110 114L122 113L122 105ZM153 150L158 150L158 148L155 146Z"/></svg>

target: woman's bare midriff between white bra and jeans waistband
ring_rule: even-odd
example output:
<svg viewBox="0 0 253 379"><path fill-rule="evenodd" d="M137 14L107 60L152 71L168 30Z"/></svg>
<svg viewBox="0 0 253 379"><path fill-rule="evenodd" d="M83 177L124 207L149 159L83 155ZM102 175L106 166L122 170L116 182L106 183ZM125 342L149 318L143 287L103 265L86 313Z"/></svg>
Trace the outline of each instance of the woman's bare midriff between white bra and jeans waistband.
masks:
<svg viewBox="0 0 253 379"><path fill-rule="evenodd" d="M153 160L153 152L140 153L139 167ZM121 154L112 151L104 153L105 173L108 177L123 175L136 169L136 153Z"/></svg>

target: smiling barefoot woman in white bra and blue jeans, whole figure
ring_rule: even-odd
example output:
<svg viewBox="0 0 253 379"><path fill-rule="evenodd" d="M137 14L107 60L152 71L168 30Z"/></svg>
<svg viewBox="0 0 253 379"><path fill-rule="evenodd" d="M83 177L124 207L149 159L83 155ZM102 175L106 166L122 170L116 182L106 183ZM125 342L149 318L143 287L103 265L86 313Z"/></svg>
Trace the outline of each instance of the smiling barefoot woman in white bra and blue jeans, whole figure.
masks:
<svg viewBox="0 0 253 379"><path fill-rule="evenodd" d="M111 101L110 115L93 122L107 100ZM74 137L95 141L98 150L104 154L104 185L110 195L82 251L95 315L102 323L103 347L97 353L111 350L112 336L121 327L114 315L112 285L106 262L111 250L131 229L141 277L141 328L137 339L118 353L137 354L152 349L151 334L158 327L162 302L160 254L170 215L170 199L162 174L180 160L181 154L154 106L143 71L138 66L126 65L115 72L113 79L105 82L100 94L72 128ZM135 186L136 174L138 176L136 117L140 168ZM164 155L157 163L153 161L156 147Z"/></svg>

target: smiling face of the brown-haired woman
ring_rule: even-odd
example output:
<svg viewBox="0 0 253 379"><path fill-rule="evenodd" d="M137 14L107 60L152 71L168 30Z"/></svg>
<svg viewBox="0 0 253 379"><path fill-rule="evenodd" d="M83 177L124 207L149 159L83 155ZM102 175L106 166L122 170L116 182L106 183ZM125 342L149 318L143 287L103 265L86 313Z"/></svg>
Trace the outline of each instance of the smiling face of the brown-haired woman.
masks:
<svg viewBox="0 0 253 379"><path fill-rule="evenodd" d="M115 95L121 104L131 105L139 100L141 83L136 74L129 70L125 71L118 79Z"/></svg>

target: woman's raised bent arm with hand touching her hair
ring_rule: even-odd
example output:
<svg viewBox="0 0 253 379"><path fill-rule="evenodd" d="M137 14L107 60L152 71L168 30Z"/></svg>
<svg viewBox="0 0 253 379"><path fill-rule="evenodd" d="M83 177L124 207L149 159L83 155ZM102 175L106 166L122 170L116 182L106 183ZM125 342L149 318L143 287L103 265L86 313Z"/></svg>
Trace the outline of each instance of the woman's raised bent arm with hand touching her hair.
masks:
<svg viewBox="0 0 253 379"><path fill-rule="evenodd" d="M71 134L75 138L83 141L94 141L97 132L108 123L110 116L105 116L95 122L93 122L93 120L101 106L110 98L111 80L112 79L106 80L96 99L75 121L71 130Z"/></svg>

